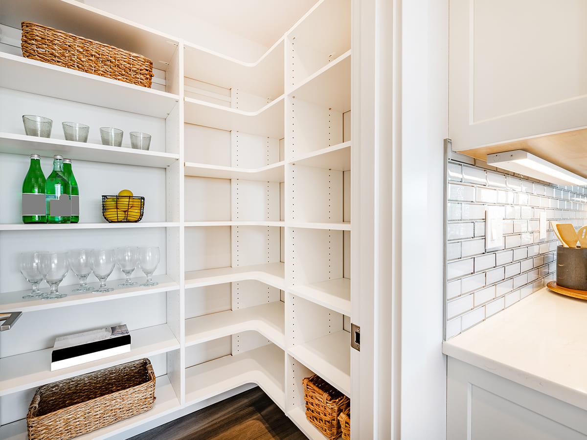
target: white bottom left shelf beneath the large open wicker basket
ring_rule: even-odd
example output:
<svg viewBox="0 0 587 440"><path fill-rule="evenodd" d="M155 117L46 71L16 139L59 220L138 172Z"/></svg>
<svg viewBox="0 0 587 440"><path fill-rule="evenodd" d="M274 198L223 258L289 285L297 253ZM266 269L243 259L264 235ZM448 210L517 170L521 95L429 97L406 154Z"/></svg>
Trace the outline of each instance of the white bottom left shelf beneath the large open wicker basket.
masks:
<svg viewBox="0 0 587 440"><path fill-rule="evenodd" d="M143 423L154 420L180 408L180 401L177 398L173 386L167 375L156 378L155 402L149 411L137 414L133 417L108 425L96 431L88 432L76 437L76 440L106 440L113 435L120 434L128 429L137 427ZM26 433L26 419L21 419L0 428L0 438L3 440L28 440Z"/></svg>

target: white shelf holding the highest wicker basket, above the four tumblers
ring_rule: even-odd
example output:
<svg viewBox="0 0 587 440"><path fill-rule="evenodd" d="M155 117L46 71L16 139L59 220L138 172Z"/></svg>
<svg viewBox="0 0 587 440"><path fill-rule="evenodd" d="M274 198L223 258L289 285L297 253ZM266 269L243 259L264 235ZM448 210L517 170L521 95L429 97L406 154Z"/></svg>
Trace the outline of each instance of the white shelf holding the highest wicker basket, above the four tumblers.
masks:
<svg viewBox="0 0 587 440"><path fill-rule="evenodd" d="M179 96L0 52L0 87L165 119ZM48 87L50 84L50 87Z"/></svg>

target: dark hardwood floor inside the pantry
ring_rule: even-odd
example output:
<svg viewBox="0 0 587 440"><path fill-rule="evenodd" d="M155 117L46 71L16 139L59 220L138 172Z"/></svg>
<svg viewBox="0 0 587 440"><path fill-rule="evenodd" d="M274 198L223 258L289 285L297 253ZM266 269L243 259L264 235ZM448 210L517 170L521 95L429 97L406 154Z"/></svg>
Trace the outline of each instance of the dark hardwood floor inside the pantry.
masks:
<svg viewBox="0 0 587 440"><path fill-rule="evenodd" d="M259 387L192 412L129 440L305 440Z"/></svg>

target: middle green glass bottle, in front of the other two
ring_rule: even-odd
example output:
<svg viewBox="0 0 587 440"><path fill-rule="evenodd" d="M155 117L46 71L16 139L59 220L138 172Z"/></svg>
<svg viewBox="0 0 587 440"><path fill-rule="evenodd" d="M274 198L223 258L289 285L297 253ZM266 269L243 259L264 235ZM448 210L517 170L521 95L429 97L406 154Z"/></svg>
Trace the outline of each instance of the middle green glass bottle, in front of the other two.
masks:
<svg viewBox="0 0 587 440"><path fill-rule="evenodd" d="M47 223L70 223L72 218L72 203L70 199L71 186L63 175L63 157L53 156L53 171L47 177L45 200L47 209Z"/></svg>

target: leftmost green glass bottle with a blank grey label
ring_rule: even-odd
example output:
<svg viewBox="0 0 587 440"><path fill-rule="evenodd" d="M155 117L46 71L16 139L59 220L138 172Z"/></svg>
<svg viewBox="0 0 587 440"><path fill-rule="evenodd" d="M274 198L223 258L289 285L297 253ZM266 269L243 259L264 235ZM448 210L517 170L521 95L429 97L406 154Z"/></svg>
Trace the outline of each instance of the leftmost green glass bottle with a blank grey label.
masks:
<svg viewBox="0 0 587 440"><path fill-rule="evenodd" d="M31 154L31 165L22 182L22 222L46 223L45 175L41 170L41 156Z"/></svg>

